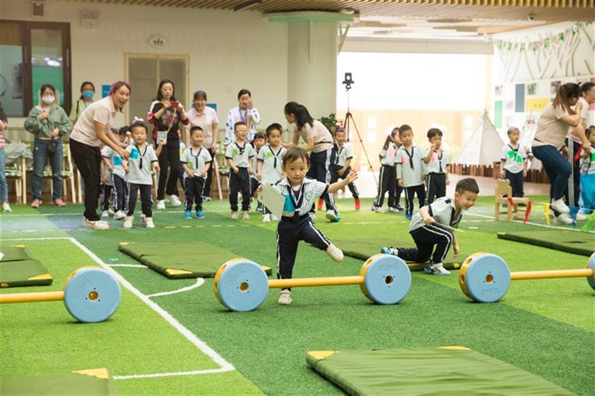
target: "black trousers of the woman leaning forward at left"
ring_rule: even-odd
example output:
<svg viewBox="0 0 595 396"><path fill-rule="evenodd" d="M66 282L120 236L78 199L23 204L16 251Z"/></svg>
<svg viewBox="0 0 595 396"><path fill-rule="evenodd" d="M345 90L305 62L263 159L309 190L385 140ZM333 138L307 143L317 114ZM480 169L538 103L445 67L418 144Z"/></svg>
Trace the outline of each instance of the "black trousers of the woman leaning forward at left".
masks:
<svg viewBox="0 0 595 396"><path fill-rule="evenodd" d="M101 150L70 139L70 153L74 163L84 181L84 214L89 221L98 221L97 205L99 201L99 186L101 186Z"/></svg>

